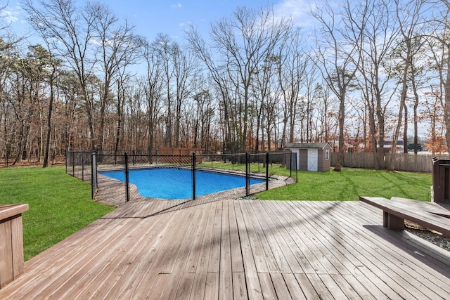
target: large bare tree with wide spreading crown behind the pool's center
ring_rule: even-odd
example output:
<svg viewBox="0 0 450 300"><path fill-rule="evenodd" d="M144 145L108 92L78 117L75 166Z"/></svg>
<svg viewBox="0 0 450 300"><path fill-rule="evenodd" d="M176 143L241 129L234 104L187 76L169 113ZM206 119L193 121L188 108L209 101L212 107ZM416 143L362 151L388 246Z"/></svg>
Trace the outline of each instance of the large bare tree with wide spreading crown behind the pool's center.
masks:
<svg viewBox="0 0 450 300"><path fill-rule="evenodd" d="M222 81L219 89L224 92L226 86L233 87L234 93L223 95L224 99L232 100L231 103L224 103L227 109L232 108L229 110L230 115L236 115L236 123L229 122L231 130L236 132L238 138L236 150L247 150L254 74L264 60L274 54L276 44L281 40L288 22L284 19L276 20L270 9L255 11L239 7L234 11L233 18L224 18L211 25L212 45L206 47L211 49L210 51L201 48L206 45L195 31L188 33L194 53L203 60L209 70L214 69L214 81ZM220 63L212 63L212 52L216 53L215 58ZM219 70L224 70L226 74ZM223 81L229 81L229 84L224 84Z"/></svg>

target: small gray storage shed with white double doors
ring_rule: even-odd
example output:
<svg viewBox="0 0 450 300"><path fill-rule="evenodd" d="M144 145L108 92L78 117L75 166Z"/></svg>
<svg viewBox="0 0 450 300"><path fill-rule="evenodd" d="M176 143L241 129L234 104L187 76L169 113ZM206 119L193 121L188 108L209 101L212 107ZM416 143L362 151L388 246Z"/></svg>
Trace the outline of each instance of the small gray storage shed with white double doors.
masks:
<svg viewBox="0 0 450 300"><path fill-rule="evenodd" d="M288 169L295 169L295 166L302 171L326 172L331 169L331 146L328 143L289 143L285 150L297 156L297 163L288 156Z"/></svg>

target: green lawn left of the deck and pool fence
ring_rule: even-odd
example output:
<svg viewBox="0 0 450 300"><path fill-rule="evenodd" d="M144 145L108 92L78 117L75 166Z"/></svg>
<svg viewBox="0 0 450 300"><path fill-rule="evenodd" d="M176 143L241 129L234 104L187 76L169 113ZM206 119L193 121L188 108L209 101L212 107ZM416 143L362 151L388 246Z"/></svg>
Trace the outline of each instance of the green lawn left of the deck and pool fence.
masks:
<svg viewBox="0 0 450 300"><path fill-rule="evenodd" d="M0 169L0 204L27 203L25 261L115 209L91 200L91 185L65 167Z"/></svg>

